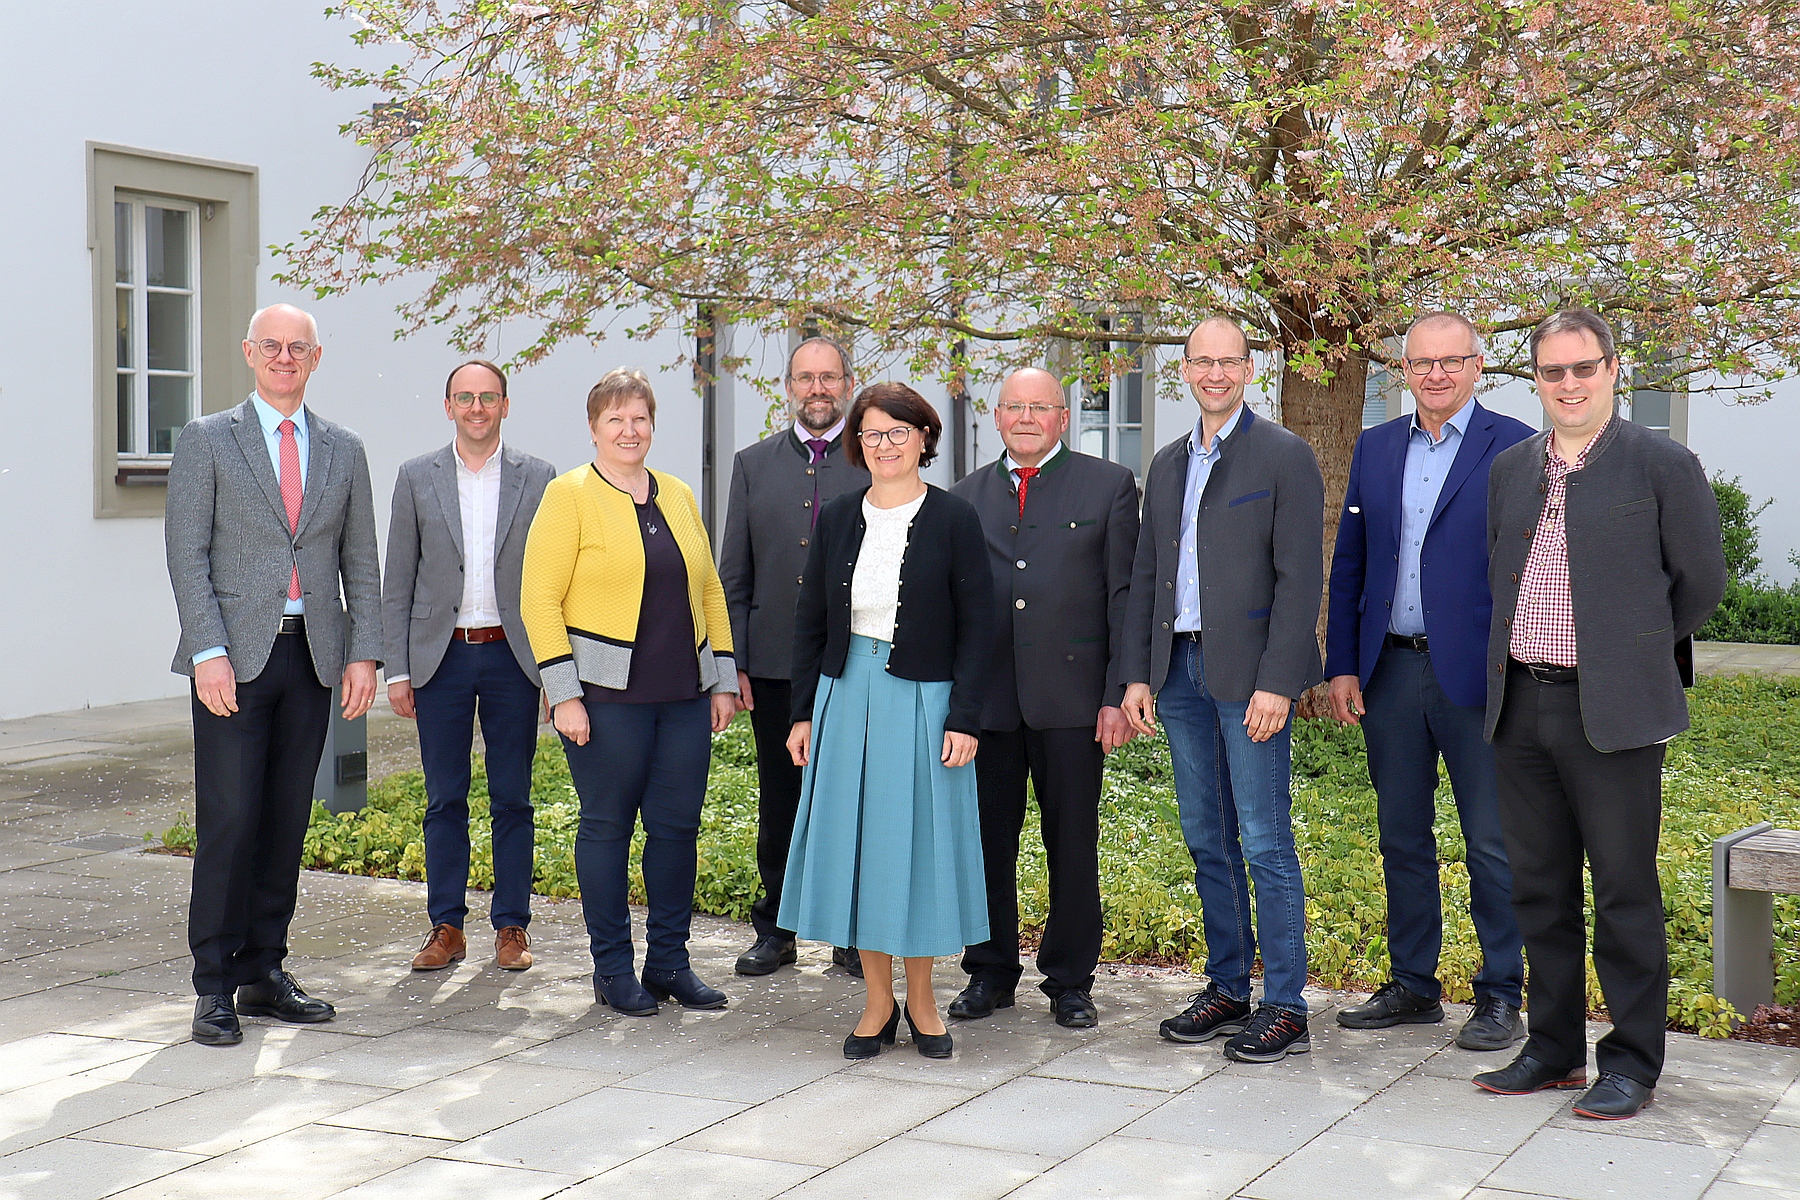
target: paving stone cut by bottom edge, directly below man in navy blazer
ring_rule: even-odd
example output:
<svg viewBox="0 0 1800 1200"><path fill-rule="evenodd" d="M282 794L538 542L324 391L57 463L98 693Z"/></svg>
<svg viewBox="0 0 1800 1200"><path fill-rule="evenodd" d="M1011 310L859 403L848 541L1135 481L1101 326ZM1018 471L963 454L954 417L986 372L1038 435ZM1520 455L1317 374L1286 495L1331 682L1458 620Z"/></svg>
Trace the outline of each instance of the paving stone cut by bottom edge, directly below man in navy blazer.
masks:
<svg viewBox="0 0 1800 1200"><path fill-rule="evenodd" d="M1462 1200L1499 1166L1494 1153L1325 1133L1244 1189L1255 1200L1406 1196Z"/></svg>

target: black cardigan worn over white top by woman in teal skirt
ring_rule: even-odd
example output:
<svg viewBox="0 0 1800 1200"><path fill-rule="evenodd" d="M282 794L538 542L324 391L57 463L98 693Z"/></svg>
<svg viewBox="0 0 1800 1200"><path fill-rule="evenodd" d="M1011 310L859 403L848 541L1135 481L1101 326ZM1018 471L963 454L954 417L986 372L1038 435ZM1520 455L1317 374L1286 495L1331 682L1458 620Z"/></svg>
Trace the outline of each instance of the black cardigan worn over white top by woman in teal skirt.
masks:
<svg viewBox="0 0 1800 1200"><path fill-rule="evenodd" d="M812 720L819 675L844 673L850 657L850 576L862 552L862 497L846 491L819 509L799 606L794 610L794 720ZM994 657L994 576L981 516L972 504L927 484L907 525L900 561L900 613L887 673L950 680L947 730L981 734L981 696Z"/></svg>

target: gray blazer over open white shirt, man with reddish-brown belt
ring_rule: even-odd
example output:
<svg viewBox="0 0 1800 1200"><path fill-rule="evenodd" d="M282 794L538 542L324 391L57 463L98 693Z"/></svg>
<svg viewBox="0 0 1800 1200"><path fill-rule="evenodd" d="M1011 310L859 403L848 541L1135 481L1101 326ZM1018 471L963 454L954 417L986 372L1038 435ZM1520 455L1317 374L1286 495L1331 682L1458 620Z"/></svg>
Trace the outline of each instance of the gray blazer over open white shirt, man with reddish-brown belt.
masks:
<svg viewBox="0 0 1800 1200"><path fill-rule="evenodd" d="M509 443L500 443L500 511L493 524L493 587L500 628L513 658L533 684L538 664L518 613L518 578L526 567L526 534L556 468ZM425 687L437 673L463 604L463 502L455 479L455 443L400 464L394 507L387 524L387 581L382 624L387 676L412 676Z"/></svg>

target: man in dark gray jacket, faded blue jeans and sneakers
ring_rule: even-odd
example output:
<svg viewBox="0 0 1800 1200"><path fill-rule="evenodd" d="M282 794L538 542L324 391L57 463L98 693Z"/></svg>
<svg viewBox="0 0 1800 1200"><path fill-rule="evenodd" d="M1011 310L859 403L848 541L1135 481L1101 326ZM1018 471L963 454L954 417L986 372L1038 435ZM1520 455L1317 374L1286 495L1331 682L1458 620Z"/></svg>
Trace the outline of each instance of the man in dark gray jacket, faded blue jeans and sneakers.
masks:
<svg viewBox="0 0 1800 1200"><path fill-rule="evenodd" d="M1255 378L1237 322L1201 322L1183 378L1193 432L1157 452L1125 630L1125 716L1152 732L1161 707L1181 833L1206 923L1211 984L1163 1022L1172 1042L1226 1042L1269 1063L1307 1038L1307 898L1289 822L1289 711L1325 678L1314 635L1325 590L1325 480L1312 448L1244 405ZM1152 698L1156 691L1156 698ZM1256 921L1249 883L1256 880ZM1262 934L1262 1006L1249 972Z"/></svg>

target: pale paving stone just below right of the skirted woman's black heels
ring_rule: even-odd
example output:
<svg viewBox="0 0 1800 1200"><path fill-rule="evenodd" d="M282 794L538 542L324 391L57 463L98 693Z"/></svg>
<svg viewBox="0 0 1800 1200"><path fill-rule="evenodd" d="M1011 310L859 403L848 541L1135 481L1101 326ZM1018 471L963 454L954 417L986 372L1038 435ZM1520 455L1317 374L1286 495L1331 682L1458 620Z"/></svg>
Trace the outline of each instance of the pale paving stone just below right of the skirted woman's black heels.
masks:
<svg viewBox="0 0 1800 1200"><path fill-rule="evenodd" d="M976 1096L918 1126L913 1135L1066 1159L1166 1099L1147 1088L1028 1076Z"/></svg>

